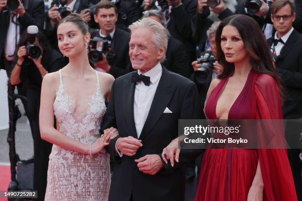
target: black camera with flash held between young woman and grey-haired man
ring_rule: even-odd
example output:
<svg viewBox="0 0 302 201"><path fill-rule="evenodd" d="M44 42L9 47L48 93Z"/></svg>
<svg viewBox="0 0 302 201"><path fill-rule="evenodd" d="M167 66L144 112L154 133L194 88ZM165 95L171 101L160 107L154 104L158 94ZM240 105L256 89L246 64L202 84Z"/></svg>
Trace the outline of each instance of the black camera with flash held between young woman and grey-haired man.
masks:
<svg viewBox="0 0 302 201"><path fill-rule="evenodd" d="M115 60L115 54L112 51L108 40L104 40L100 37L93 37L89 41L88 57L91 63L101 62L103 60L103 54L106 55L106 59L109 65L113 65Z"/></svg>

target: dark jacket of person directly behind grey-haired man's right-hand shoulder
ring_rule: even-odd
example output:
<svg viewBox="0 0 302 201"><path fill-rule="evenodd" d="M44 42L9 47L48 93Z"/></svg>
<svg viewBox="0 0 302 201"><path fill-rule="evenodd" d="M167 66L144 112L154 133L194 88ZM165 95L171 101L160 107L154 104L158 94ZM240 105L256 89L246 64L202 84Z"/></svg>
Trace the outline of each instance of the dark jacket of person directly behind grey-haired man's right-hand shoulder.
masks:
<svg viewBox="0 0 302 201"><path fill-rule="evenodd" d="M170 37L166 52L166 59L162 63L168 70L189 77L192 69L184 44Z"/></svg>

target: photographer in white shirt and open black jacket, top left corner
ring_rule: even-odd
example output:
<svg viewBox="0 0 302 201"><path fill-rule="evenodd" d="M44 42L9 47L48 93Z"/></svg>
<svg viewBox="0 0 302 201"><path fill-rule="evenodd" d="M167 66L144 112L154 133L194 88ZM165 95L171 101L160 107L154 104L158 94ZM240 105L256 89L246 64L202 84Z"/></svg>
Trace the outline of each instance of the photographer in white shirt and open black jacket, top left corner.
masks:
<svg viewBox="0 0 302 201"><path fill-rule="evenodd" d="M0 0L0 67L5 68L8 77L20 33L30 25L42 30L44 19L43 0Z"/></svg>

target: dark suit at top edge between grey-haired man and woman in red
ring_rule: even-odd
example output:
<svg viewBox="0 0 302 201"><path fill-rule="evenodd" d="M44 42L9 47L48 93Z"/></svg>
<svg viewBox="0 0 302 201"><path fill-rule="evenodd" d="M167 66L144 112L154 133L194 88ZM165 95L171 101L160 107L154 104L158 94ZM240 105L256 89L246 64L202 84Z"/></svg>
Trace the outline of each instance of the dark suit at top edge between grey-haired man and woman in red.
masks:
<svg viewBox="0 0 302 201"><path fill-rule="evenodd" d="M171 36L185 45L189 60L192 62L196 56L192 33L197 0L182 0L182 3L182 5L171 9L171 18L168 20L167 29Z"/></svg>

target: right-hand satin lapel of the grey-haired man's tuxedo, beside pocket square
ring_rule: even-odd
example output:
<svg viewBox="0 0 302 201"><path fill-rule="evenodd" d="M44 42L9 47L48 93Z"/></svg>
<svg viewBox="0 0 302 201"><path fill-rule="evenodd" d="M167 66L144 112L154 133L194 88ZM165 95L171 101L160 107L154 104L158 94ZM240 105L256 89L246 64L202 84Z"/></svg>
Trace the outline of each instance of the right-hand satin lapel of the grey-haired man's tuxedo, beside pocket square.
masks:
<svg viewBox="0 0 302 201"><path fill-rule="evenodd" d="M175 87L173 87L171 84L169 71L165 67L162 67L162 74L139 139L143 139L149 134L150 130L158 121L169 101L171 100L174 91Z"/></svg>

